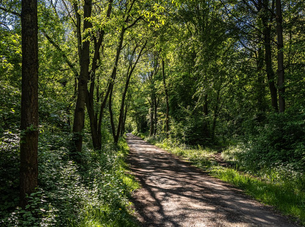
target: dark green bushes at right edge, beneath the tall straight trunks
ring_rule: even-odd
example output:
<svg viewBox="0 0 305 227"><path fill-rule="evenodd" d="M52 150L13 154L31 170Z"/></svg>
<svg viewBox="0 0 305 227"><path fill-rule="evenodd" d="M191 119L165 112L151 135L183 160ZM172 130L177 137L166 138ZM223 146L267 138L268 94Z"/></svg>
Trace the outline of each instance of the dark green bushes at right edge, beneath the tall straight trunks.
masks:
<svg viewBox="0 0 305 227"><path fill-rule="evenodd" d="M293 163L304 168L304 117L303 108L273 113L267 117L265 124L257 125L254 130L247 132L249 141L228 148L223 155L228 160L234 159L241 166L256 170L277 162ZM247 125L249 122L245 123Z"/></svg>

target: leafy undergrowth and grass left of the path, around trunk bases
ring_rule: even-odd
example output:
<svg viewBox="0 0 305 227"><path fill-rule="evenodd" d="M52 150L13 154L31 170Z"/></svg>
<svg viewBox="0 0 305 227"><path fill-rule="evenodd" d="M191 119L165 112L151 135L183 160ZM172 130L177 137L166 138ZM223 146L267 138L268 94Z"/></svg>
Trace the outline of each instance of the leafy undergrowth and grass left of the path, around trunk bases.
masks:
<svg viewBox="0 0 305 227"><path fill-rule="evenodd" d="M19 137L5 133L0 141L0 226L138 226L129 196L139 184L126 172L125 138L117 145L105 140L99 151L85 142L81 164L76 164L68 155L70 137L66 132L40 134L39 187L22 210L18 207Z"/></svg>

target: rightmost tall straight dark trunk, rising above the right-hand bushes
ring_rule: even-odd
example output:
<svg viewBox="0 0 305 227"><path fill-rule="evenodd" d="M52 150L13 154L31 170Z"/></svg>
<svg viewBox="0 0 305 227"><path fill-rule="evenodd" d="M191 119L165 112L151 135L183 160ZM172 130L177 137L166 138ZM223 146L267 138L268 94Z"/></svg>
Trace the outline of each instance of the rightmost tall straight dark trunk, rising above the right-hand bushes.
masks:
<svg viewBox="0 0 305 227"><path fill-rule="evenodd" d="M279 112L285 111L285 86L284 86L284 42L282 26L282 5L281 0L275 0L276 8L276 32L278 36L278 106Z"/></svg>

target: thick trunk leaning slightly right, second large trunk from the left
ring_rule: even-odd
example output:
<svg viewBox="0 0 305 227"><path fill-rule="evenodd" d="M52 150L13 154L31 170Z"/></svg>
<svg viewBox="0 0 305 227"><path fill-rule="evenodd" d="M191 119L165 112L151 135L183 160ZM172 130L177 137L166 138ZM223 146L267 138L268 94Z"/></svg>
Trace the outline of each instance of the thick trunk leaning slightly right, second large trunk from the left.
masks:
<svg viewBox="0 0 305 227"><path fill-rule="evenodd" d="M92 0L84 1L84 31L91 27L91 23L85 19L91 16ZM78 80L78 91L77 100L74 112L74 122L73 122L73 148L72 156L76 162L80 162L80 153L83 143L82 129L84 127L84 108L85 100L87 95L87 82L88 82L88 72L90 64L90 41L84 37L81 47L81 73Z"/></svg>

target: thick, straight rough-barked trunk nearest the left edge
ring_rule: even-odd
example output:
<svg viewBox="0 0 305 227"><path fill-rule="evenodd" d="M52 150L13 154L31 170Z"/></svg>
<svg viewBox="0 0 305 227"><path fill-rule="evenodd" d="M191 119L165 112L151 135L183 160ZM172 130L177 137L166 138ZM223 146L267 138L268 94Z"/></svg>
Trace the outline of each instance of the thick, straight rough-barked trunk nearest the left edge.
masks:
<svg viewBox="0 0 305 227"><path fill-rule="evenodd" d="M37 0L21 1L22 84L20 120L20 206L38 185Z"/></svg>

